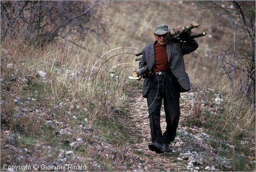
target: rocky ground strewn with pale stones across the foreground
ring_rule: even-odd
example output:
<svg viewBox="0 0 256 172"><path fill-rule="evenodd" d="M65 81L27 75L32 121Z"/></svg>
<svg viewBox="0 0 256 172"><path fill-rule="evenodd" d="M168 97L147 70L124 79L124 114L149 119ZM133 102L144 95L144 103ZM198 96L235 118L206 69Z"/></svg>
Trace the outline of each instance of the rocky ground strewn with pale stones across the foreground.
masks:
<svg viewBox="0 0 256 172"><path fill-rule="evenodd" d="M1 80L2 87L5 86L4 80ZM8 90L4 90L8 92ZM197 100L199 94L207 93L214 97L212 103L206 100ZM4 93L3 93L4 95ZM71 115L75 123L67 121L58 121L50 109L33 106L38 101L37 97L20 98L19 95L9 94L9 98L14 105L14 119L30 119L36 116L44 120L47 128L53 128L52 133L42 134L44 138L29 137L29 130L24 131L24 135L13 133L7 130L5 123L8 118L2 117L1 130L1 169L13 171L13 169L4 167L7 165L19 164L39 164L38 170L60 171L58 166L68 166L68 164L80 165L86 164L86 170L108 171L108 170L129 170L129 171L221 171L232 170L229 159L219 155L223 145L232 147L227 143L221 142L207 134L207 131L197 123L200 114L204 109L218 112L219 104L223 101L220 94L215 94L212 89L197 89L196 87L187 93L181 94L181 118L177 131L177 138L171 144L172 152L156 154L151 152L147 144L150 142L150 127L147 118L146 99L141 97L140 91L137 91L131 97L136 104L131 107L131 121L127 123L131 127L132 133L130 140L123 144L110 144L106 138L97 132L97 128L91 125L87 118L81 118L79 115ZM1 104L6 103L1 99ZM68 101L68 100L67 100ZM65 109L65 101L55 105L54 109ZM78 107L77 107L78 108ZM48 111L49 110L49 111ZM81 109L87 113L87 109ZM29 117L29 118L26 118ZM191 119L195 117L196 119ZM198 118L198 119L197 119ZM77 119L77 120L76 120ZM81 122L82 119L82 122ZM5 121L7 120L7 121ZM19 122L22 120L19 120ZM200 119L203 121L203 119ZM10 122L10 121L9 121ZM15 122L15 121L12 121ZM23 121L23 127L28 127L26 121ZM189 124L189 122L193 122ZM196 123L195 123L196 122ZM193 125L193 124L198 125ZM37 125L39 123L35 123ZM189 125L188 125L189 124ZM161 112L161 127L165 130L164 111ZM108 131L105 131L108 133ZM120 134L120 133L119 133ZM52 136L50 138L49 136ZM117 138L118 133L117 133ZM50 140L49 140L50 138ZM128 140L128 138L127 138ZM218 145L212 147L212 145ZM253 151L254 147L250 147ZM243 156L243 155L241 155ZM250 158L250 157L248 157ZM255 159L251 158L251 163ZM41 166L47 164L48 168ZM61 170L68 170L61 169ZM80 169L84 170L84 169Z"/></svg>

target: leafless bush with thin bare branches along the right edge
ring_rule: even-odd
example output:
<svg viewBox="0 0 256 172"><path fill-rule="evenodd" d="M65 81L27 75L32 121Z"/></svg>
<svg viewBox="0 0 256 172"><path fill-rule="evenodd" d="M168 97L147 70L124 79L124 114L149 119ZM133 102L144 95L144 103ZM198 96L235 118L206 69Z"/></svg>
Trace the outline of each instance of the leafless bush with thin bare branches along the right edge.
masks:
<svg viewBox="0 0 256 172"><path fill-rule="evenodd" d="M240 104L246 97L255 104L255 1L211 3L232 29L233 42L218 56L224 74L232 91L244 95Z"/></svg>

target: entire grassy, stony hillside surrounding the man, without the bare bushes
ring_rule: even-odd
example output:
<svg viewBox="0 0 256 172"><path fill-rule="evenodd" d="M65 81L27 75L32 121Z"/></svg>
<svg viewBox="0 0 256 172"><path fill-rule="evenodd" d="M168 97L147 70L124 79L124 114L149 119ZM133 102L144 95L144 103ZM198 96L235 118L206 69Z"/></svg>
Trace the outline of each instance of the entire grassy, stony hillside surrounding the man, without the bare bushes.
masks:
<svg viewBox="0 0 256 172"><path fill-rule="evenodd" d="M254 171L254 106L230 94L220 63L212 60L230 44L232 31L212 9L194 10L204 4L111 1L99 10L106 14L108 45L88 35L83 43L92 51L62 40L38 48L22 34L1 42L1 170ZM172 153L158 155L147 147L143 79L127 77L157 24L191 22L207 35L185 56L193 89L181 94ZM161 120L164 130L164 111Z"/></svg>

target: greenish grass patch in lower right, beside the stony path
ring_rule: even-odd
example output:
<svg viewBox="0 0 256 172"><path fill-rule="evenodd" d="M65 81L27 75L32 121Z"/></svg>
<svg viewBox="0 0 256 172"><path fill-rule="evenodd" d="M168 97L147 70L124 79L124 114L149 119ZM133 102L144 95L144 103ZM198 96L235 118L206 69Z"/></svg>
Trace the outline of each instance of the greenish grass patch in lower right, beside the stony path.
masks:
<svg viewBox="0 0 256 172"><path fill-rule="evenodd" d="M241 111L241 107L231 102L223 102L220 107L219 112L205 111L203 113L207 119L203 127L207 129L206 133L213 138L208 140L209 144L215 149L216 154L229 159L232 170L254 171L255 164L248 159L248 156L253 155L248 152L248 147L241 144L241 141L251 140L251 137L248 138L249 135L246 134L248 131L245 129L238 130L238 125L243 127L243 123L240 123L238 119L243 119L245 113ZM218 165L221 170L230 170L222 164L222 161Z"/></svg>

